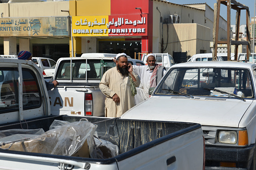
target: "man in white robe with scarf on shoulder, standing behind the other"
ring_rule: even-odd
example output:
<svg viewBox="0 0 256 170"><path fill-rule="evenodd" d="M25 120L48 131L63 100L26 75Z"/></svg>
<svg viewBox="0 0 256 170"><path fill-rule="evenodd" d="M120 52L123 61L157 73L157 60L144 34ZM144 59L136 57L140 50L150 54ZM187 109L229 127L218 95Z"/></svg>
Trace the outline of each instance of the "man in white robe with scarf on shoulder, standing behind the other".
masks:
<svg viewBox="0 0 256 170"><path fill-rule="evenodd" d="M149 98L149 88L156 87L163 75L166 73L165 67L161 64L156 64L156 57L154 54L146 56L147 64L145 66L134 66L133 70L141 78L139 88L136 88L135 104L139 104Z"/></svg>

